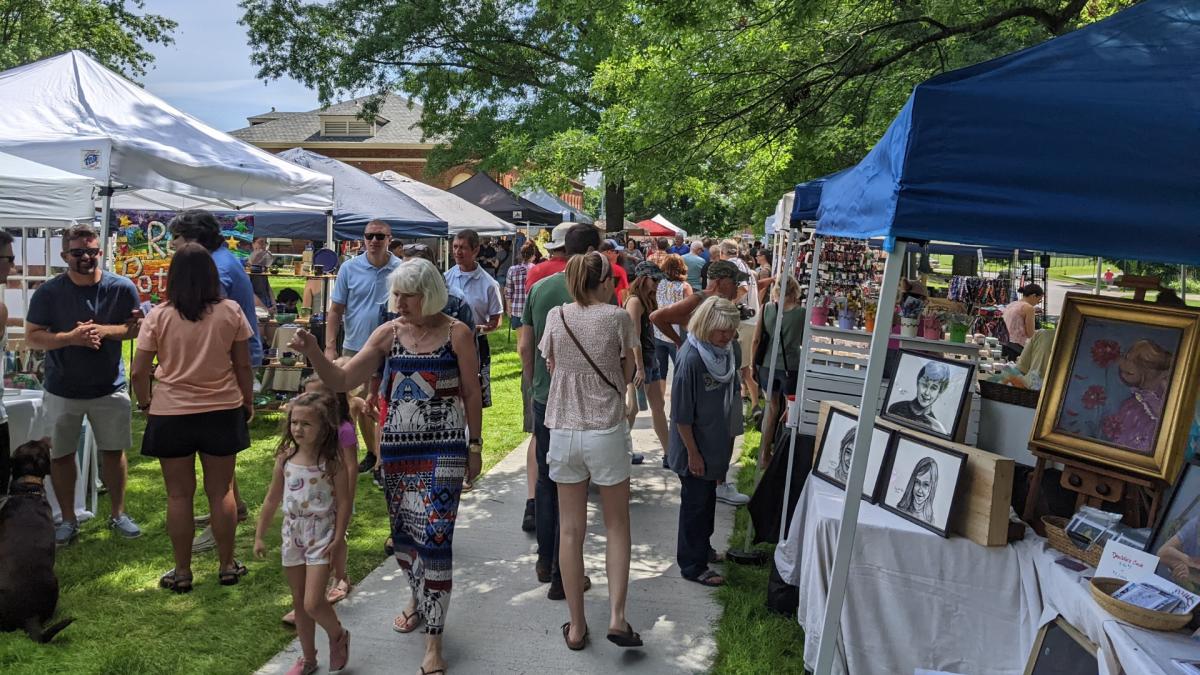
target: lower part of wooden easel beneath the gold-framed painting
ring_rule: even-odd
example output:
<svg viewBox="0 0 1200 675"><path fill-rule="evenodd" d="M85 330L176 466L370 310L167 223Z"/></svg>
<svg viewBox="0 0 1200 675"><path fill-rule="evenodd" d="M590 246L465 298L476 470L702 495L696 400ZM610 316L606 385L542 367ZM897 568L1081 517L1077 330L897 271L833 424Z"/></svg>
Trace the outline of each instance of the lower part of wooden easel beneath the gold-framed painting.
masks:
<svg viewBox="0 0 1200 675"><path fill-rule="evenodd" d="M1042 494L1042 477L1051 464L1063 466L1060 485L1076 494L1076 510L1082 506L1098 508L1105 503L1123 503L1121 512L1124 515L1126 525L1150 527L1154 524L1166 490L1166 484L1162 480L1121 473L1112 468L1063 458L1038 448L1030 448L1030 452L1038 458L1038 462L1033 467L1032 484L1028 497L1025 500L1025 513L1021 516L1038 532L1042 531L1042 524L1034 522L1034 516L1037 515L1038 497ZM1147 501L1148 506L1142 508Z"/></svg>

